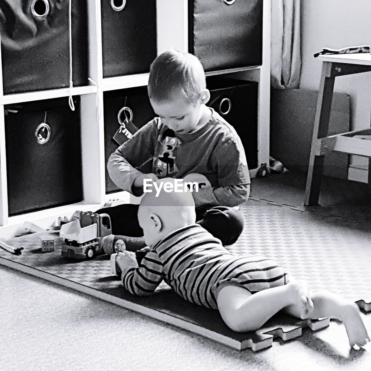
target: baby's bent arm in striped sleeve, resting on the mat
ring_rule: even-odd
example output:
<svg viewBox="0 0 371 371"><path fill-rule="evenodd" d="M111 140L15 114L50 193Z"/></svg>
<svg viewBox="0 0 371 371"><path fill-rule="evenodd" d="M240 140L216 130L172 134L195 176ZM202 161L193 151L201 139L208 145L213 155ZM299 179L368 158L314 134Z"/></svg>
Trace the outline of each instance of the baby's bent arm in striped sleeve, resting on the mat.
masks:
<svg viewBox="0 0 371 371"><path fill-rule="evenodd" d="M132 255L134 256L134 253ZM121 280L125 289L132 295L152 295L164 278L162 263L155 250L144 256L139 267L138 264L130 263L130 259L127 261L129 263L126 266L121 266Z"/></svg>

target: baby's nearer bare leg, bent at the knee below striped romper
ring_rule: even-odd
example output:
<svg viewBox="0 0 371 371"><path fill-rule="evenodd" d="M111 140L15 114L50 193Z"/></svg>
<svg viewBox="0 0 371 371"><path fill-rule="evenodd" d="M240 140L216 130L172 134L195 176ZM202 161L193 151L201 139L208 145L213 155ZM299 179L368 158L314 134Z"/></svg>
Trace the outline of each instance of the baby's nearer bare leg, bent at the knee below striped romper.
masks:
<svg viewBox="0 0 371 371"><path fill-rule="evenodd" d="M217 297L217 305L223 321L234 331L254 331L281 309L302 301L305 312L307 299L299 286L289 283L259 291L252 295L239 286L224 286Z"/></svg>

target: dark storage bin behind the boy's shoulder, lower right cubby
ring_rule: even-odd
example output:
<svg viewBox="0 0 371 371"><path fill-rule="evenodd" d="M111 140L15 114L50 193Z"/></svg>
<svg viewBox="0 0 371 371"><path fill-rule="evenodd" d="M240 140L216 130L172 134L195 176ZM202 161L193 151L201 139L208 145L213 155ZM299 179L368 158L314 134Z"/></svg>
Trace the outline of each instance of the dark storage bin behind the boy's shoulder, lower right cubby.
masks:
<svg viewBox="0 0 371 371"><path fill-rule="evenodd" d="M241 138L249 169L257 168L257 89L258 83L210 76L206 78L212 107Z"/></svg>

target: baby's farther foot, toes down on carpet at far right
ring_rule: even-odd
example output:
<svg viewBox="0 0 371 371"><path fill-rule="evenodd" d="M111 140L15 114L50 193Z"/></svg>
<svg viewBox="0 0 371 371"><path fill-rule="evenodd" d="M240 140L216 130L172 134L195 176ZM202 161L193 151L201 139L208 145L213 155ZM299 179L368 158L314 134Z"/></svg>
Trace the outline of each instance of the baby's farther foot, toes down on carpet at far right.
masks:
<svg viewBox="0 0 371 371"><path fill-rule="evenodd" d="M351 303L344 307L342 322L347 330L351 348L353 348L355 344L357 344L358 347L362 347L370 341L370 336L367 334L357 304Z"/></svg>

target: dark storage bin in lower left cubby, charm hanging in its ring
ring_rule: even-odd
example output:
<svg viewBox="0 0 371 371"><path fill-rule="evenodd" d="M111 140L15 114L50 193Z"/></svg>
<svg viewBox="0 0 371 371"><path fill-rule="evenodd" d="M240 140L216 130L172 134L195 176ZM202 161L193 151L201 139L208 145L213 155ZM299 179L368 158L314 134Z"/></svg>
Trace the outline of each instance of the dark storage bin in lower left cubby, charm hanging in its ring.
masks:
<svg viewBox="0 0 371 371"><path fill-rule="evenodd" d="M73 101L75 111L67 97L4 106L10 216L82 201L80 98ZM39 128L45 112L50 131Z"/></svg>

